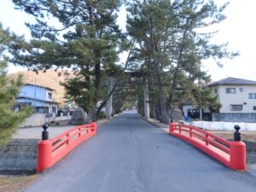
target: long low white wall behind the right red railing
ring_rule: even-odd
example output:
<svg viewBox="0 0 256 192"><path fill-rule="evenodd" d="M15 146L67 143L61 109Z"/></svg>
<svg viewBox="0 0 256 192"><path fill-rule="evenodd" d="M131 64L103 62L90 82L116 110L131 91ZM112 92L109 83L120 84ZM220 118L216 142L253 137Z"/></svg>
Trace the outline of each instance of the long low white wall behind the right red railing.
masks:
<svg viewBox="0 0 256 192"><path fill-rule="evenodd" d="M235 131L234 126L239 125L241 131L256 131L256 123L193 121L192 125L210 131Z"/></svg>

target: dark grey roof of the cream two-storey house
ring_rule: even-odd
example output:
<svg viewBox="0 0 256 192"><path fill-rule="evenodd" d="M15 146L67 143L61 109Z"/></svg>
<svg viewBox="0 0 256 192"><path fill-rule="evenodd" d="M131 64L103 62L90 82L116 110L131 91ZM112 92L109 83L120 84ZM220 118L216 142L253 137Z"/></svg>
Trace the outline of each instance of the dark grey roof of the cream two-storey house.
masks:
<svg viewBox="0 0 256 192"><path fill-rule="evenodd" d="M215 85L228 85L228 84L246 84L246 85L256 85L256 81L251 81L247 79L237 79L237 78L225 78L221 79L219 81L213 82L211 84L208 84L209 87L215 86Z"/></svg>

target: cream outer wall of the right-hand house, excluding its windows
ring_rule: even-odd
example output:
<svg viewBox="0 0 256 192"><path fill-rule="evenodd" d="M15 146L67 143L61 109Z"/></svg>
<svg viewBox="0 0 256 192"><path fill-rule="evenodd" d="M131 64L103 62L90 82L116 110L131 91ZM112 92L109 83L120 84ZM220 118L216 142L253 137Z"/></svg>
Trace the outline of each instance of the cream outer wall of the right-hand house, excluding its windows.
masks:
<svg viewBox="0 0 256 192"><path fill-rule="evenodd" d="M249 93L256 93L255 85L221 85L218 89L218 99L222 104L219 113L256 113L256 99L249 99ZM236 88L236 94L227 94L226 88ZM241 92L239 89L243 88ZM214 91L215 87L213 87ZM246 104L245 104L246 103ZM242 110L231 110L230 105L242 105Z"/></svg>

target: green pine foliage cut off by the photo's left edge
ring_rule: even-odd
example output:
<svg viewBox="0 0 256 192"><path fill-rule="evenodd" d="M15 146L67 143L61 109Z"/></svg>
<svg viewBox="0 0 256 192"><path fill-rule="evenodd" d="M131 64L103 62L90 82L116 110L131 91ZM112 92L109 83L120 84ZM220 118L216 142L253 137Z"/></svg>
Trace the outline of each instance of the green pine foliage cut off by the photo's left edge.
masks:
<svg viewBox="0 0 256 192"><path fill-rule="evenodd" d="M18 125L31 114L31 108L21 108L20 113L15 113L15 97L22 85L21 76L11 79L6 75L9 58L3 55L9 44L13 44L17 37L3 30L0 23L0 145L9 142L9 138L16 131Z"/></svg>

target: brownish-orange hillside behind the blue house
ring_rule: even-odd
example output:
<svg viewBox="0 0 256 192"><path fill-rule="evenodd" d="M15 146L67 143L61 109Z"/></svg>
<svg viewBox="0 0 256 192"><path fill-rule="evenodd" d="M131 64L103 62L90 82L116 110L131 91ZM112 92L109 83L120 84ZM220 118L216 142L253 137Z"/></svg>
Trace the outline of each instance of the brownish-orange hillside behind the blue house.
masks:
<svg viewBox="0 0 256 192"><path fill-rule="evenodd" d="M38 84L55 90L54 101L60 102L60 104L65 102L65 89L60 83L65 82L66 79L74 77L72 72L68 72L67 70L55 71L54 69L49 69L45 73L38 72L38 74L32 71L20 71L18 73L9 74L9 76L15 77L18 74L23 76L23 82L25 84Z"/></svg>

